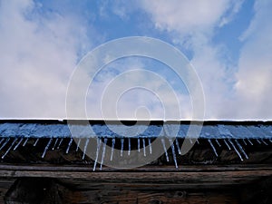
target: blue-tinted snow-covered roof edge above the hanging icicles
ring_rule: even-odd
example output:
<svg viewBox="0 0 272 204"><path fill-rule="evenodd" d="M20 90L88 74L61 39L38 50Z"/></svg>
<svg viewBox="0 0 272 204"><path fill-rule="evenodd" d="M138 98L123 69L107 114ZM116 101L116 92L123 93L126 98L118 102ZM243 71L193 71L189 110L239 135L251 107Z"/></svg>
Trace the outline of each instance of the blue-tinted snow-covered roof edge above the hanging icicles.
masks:
<svg viewBox="0 0 272 204"><path fill-rule="evenodd" d="M2 120L0 121L0 137L71 137L71 130L73 130L78 132L76 137L177 136L184 138L191 125L192 128L201 128L199 138L272 138L271 121L204 121L202 127L202 122L198 121L135 122L127 121L129 125L124 125L117 121L89 121L90 125L85 125L86 121ZM92 135L90 135L90 129L92 129Z"/></svg>

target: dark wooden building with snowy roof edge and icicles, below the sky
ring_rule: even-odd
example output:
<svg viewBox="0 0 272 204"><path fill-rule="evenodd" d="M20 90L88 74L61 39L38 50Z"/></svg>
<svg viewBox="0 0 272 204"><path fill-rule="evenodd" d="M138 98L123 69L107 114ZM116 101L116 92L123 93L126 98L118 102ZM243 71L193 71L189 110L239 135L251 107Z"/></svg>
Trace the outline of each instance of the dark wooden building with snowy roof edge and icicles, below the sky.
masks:
<svg viewBox="0 0 272 204"><path fill-rule="evenodd" d="M122 123L88 121L89 141L84 131L71 134L71 127L84 128L80 121L0 121L0 203L272 203L272 122ZM194 145L183 154L191 125L201 131L186 139ZM166 133L177 127L176 135ZM163 151L158 159L126 168L135 155L154 154L156 139ZM101 165L111 157L123 169Z"/></svg>

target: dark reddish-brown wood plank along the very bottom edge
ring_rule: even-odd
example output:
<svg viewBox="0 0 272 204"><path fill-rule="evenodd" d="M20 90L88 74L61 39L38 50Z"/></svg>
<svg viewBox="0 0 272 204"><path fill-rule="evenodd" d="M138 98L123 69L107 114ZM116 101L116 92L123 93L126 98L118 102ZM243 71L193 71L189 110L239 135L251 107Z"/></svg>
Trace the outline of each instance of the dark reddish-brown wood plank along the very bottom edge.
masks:
<svg viewBox="0 0 272 204"><path fill-rule="evenodd" d="M185 190L141 191L141 190L92 190L75 192L66 198L67 203L118 203L118 204L180 204L180 203L238 203L238 196L219 192L189 192ZM70 201L70 202L69 202Z"/></svg>

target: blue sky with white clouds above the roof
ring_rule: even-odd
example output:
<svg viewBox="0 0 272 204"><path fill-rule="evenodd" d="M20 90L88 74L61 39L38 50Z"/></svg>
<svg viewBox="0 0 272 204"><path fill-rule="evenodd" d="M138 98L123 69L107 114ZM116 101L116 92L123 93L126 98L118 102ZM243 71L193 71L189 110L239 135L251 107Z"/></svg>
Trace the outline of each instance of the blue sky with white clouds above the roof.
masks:
<svg viewBox="0 0 272 204"><path fill-rule="evenodd" d="M205 120L271 120L271 9L270 0L0 0L0 118L65 119L67 87L83 56L147 36L188 58L203 87ZM141 87L119 97L111 90L131 82ZM187 84L141 56L103 67L85 101L89 119L191 120L193 112Z"/></svg>

